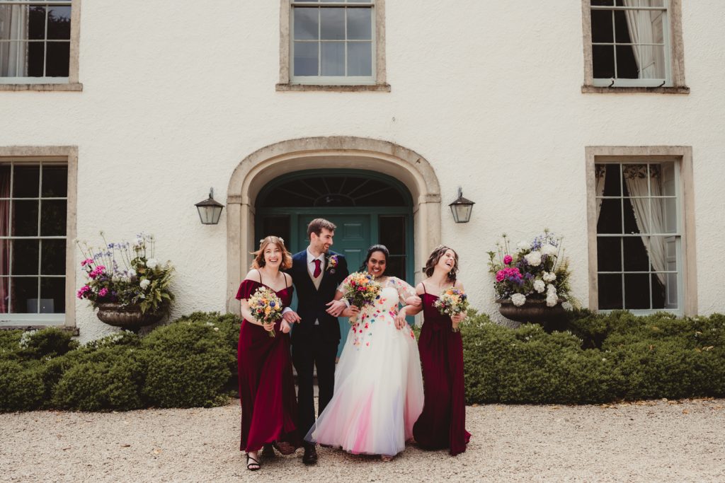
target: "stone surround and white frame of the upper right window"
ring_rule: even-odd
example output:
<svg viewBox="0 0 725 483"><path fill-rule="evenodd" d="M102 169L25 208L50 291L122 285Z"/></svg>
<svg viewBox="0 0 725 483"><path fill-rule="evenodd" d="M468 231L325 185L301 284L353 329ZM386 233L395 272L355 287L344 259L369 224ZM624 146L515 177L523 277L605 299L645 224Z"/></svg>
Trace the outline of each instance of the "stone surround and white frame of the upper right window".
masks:
<svg viewBox="0 0 725 483"><path fill-rule="evenodd" d="M663 7L608 7L592 6L591 0L581 0L582 28L584 32L584 85L583 93L676 93L687 94L689 88L684 80L684 47L682 42L682 0L664 0ZM594 77L592 52L592 9L594 10L630 10L655 9L663 11L663 43L665 78L664 79L602 79ZM613 26L614 28L614 26ZM615 43L597 43L596 45L630 45ZM616 49L615 49L616 52ZM616 68L616 59L615 59Z"/></svg>

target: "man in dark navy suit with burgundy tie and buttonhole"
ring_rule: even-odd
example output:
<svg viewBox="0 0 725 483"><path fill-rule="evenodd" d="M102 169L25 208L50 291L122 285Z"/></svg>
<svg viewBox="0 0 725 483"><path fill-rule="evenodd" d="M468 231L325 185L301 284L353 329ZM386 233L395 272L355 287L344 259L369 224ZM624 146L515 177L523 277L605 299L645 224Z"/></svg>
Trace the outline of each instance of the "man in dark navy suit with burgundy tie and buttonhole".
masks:
<svg viewBox="0 0 725 483"><path fill-rule="evenodd" d="M315 424L315 402L312 393L313 367L317 366L320 400L318 414L332 399L335 387L335 358L340 342L337 316L346 307L344 301L333 301L337 286L347 277L344 255L330 251L336 226L326 219L313 219L307 225L310 245L292 257L288 273L297 290L297 312L286 308L287 322L299 322L292 331L292 364L297 369L298 424L301 437ZM314 443L304 442L302 463L317 463Z"/></svg>

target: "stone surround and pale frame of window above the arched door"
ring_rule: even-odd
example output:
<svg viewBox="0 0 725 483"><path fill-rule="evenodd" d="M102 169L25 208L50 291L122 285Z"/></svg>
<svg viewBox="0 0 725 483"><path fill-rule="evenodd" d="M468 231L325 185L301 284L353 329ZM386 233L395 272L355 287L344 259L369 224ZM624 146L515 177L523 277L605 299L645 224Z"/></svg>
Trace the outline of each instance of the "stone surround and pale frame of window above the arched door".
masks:
<svg viewBox="0 0 725 483"><path fill-rule="evenodd" d="M294 75L294 6L366 8L371 11L372 57L370 76L295 76ZM347 16L346 16L347 18ZM347 36L347 29L346 29ZM318 39L318 42L320 40ZM349 42L344 40L342 42ZM346 53L347 58L347 53ZM389 92L385 67L385 0L370 3L299 0L281 0L280 5L280 67L277 91L378 91Z"/></svg>

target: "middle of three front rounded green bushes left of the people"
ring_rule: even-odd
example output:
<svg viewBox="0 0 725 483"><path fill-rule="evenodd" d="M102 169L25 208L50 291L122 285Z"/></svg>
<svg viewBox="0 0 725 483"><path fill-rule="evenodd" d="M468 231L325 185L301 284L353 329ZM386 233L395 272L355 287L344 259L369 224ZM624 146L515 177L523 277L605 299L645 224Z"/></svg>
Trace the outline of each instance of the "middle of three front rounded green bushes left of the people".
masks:
<svg viewBox="0 0 725 483"><path fill-rule="evenodd" d="M83 348L46 366L46 381L58 377L51 405L76 411L138 409L146 359L128 345ZM46 382L47 384L47 382Z"/></svg>

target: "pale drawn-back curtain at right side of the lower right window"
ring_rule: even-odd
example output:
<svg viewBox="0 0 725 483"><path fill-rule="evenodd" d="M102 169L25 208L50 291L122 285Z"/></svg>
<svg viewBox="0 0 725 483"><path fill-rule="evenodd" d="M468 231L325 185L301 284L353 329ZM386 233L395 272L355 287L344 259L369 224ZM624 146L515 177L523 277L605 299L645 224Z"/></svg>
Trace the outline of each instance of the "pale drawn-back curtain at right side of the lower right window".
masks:
<svg viewBox="0 0 725 483"><path fill-rule="evenodd" d="M662 196L662 186L660 183L660 169L650 165L649 183L647 179L647 165L636 164L624 167L624 182L626 182L627 190L629 190L629 198L632 208L634 209L634 219L637 221L637 228L642 233L642 243L645 244L647 253L650 255L650 263L652 264L657 278L662 285L665 285L665 274L661 273L667 269L667 260L665 253L664 237L655 236L650 238L645 234L663 233L664 225L664 200L663 198L650 198L649 196ZM650 184L651 192L647 190L647 184ZM642 198L634 198L641 196ZM652 203L652 212L650 213L650 203Z"/></svg>

